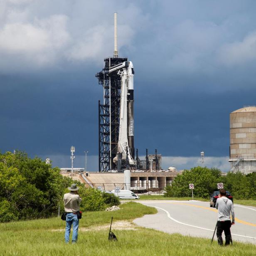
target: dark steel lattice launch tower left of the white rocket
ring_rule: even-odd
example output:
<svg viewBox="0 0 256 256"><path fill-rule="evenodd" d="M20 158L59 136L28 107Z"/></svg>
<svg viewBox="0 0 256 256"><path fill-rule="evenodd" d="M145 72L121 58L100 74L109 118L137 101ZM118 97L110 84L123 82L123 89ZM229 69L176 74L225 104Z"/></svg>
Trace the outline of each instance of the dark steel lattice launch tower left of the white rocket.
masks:
<svg viewBox="0 0 256 256"><path fill-rule="evenodd" d="M119 136L121 78L116 72L108 74L109 68L128 61L126 57L104 59L104 68L96 74L98 84L103 86L103 104L98 101L98 170L107 172L116 167L113 158L117 154Z"/></svg>

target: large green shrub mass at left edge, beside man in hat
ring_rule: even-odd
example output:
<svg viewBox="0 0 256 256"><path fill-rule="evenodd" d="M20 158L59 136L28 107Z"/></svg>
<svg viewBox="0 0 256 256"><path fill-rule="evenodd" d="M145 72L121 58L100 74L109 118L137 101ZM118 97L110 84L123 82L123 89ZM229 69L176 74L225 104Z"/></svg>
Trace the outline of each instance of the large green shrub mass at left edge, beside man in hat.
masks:
<svg viewBox="0 0 256 256"><path fill-rule="evenodd" d="M0 153L0 222L57 215L66 188L74 183L59 171L24 152Z"/></svg>

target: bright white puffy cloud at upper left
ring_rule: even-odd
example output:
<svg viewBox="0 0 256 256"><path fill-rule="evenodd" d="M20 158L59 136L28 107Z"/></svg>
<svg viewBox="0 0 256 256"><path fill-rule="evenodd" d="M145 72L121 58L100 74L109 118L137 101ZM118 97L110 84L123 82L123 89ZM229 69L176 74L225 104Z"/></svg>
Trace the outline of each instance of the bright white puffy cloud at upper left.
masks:
<svg viewBox="0 0 256 256"><path fill-rule="evenodd" d="M0 49L10 53L35 53L59 48L69 39L67 17L53 15L30 23L9 23L0 30Z"/></svg>

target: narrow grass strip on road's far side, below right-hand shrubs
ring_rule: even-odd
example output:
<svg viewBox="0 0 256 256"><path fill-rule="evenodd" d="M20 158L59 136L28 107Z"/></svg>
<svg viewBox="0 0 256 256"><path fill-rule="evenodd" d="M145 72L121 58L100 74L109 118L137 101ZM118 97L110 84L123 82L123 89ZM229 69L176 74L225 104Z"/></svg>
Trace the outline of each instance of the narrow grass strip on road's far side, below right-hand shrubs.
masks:
<svg viewBox="0 0 256 256"><path fill-rule="evenodd" d="M179 200L179 201L187 201L192 200L192 197L164 197L163 195L141 195L138 200ZM209 202L209 199L194 197L194 200ZM256 200L253 199L234 199L234 204L242 204L247 206L256 207Z"/></svg>

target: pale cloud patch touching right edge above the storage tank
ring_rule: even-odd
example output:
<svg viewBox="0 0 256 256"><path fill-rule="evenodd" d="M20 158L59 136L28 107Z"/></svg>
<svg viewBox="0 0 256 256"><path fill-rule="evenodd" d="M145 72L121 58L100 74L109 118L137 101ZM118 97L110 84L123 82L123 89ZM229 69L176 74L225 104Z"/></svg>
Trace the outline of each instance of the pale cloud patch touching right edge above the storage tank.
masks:
<svg viewBox="0 0 256 256"><path fill-rule="evenodd" d="M241 42L224 44L219 50L219 60L227 66L256 60L256 32L251 32Z"/></svg>

